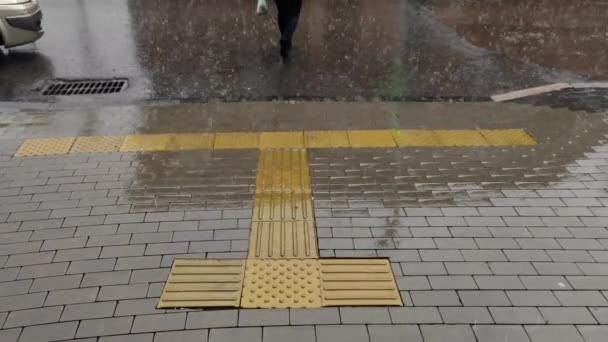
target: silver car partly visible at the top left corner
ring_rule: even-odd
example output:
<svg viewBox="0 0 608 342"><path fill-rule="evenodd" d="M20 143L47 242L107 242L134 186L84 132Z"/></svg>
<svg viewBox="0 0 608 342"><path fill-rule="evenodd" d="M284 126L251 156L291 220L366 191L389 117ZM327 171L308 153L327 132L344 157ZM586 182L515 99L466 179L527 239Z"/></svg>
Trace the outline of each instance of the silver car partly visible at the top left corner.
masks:
<svg viewBox="0 0 608 342"><path fill-rule="evenodd" d="M29 44L43 34L38 0L0 0L0 46Z"/></svg>

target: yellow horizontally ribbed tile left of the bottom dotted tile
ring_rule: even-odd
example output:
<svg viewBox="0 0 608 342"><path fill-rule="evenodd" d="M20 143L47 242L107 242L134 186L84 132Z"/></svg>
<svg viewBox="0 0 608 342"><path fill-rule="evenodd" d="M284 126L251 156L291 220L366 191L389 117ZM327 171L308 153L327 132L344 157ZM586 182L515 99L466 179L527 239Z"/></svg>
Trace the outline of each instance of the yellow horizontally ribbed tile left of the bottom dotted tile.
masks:
<svg viewBox="0 0 608 342"><path fill-rule="evenodd" d="M239 307L245 260L176 259L157 307Z"/></svg>

